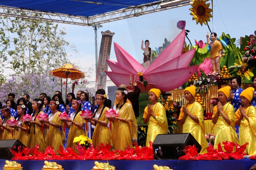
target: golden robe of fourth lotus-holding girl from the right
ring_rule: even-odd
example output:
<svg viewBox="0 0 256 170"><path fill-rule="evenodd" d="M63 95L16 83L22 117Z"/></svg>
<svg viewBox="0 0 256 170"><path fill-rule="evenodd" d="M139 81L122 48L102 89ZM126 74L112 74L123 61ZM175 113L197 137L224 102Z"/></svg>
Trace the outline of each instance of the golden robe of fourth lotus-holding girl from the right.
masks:
<svg viewBox="0 0 256 170"><path fill-rule="evenodd" d="M61 114L61 112L56 112L55 114L52 115L53 118L51 120L51 123L58 124L59 126L62 126L63 122L60 120L59 114ZM46 146L53 147L55 152L57 150L59 150L60 146L63 147L62 133L61 133L60 128L56 128L56 127L50 125L49 130L48 130Z"/></svg>

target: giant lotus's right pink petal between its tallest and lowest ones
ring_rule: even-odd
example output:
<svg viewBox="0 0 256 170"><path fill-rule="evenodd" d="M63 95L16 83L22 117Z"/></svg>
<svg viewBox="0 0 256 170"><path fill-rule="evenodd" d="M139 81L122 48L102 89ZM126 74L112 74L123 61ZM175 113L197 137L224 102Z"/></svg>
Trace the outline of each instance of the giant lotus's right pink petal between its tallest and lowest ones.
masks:
<svg viewBox="0 0 256 170"><path fill-rule="evenodd" d="M195 51L196 51L196 48L189 50L188 52L185 52L184 54L164 63L163 65L159 66L154 70L147 69L144 75L148 75L148 74L160 72L160 71L167 71L171 69L179 69L179 68L187 67L190 64L195 54Z"/></svg>

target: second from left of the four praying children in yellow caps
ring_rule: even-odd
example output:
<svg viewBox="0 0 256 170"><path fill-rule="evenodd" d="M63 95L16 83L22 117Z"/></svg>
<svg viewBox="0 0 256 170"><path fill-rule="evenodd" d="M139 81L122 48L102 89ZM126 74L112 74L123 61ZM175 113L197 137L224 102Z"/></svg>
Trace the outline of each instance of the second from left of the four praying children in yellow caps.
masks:
<svg viewBox="0 0 256 170"><path fill-rule="evenodd" d="M183 133L191 133L201 145L201 152L203 154L207 153L208 144L204 135L203 108L201 104L194 100L196 87L192 85L185 88L184 95L188 103L182 106L178 119L183 125Z"/></svg>

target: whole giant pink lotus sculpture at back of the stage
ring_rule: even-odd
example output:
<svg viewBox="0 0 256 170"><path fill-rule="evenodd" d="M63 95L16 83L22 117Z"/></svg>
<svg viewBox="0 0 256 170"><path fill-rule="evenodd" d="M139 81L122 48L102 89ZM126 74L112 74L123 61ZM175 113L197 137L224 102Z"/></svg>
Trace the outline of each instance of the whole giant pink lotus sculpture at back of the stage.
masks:
<svg viewBox="0 0 256 170"><path fill-rule="evenodd" d="M130 75L144 71L143 79L155 84L155 88L164 92L174 90L186 83L198 68L198 65L189 66L196 48L182 54L184 41L185 30L183 29L148 69L145 69L117 43L114 43L117 62L107 59L112 71L105 72L116 86L120 84L129 86ZM137 76L135 81L139 80Z"/></svg>

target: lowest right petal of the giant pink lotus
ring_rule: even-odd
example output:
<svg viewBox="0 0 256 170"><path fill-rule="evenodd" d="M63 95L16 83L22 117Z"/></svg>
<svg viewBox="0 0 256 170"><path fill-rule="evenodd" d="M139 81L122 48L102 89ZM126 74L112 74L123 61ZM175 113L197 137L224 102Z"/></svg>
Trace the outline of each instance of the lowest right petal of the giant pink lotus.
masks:
<svg viewBox="0 0 256 170"><path fill-rule="evenodd" d="M194 74L198 65L145 75L143 78L156 84L156 88L166 92L180 87Z"/></svg>

